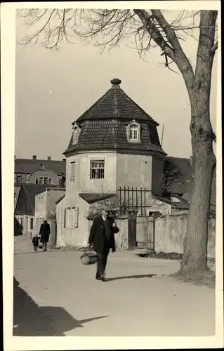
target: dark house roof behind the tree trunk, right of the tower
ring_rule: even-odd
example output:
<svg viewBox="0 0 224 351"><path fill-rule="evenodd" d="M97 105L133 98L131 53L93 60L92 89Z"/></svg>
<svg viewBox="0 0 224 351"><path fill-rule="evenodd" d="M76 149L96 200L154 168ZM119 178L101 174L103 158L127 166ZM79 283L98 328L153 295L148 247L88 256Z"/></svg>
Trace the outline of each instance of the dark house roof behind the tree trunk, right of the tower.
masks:
<svg viewBox="0 0 224 351"><path fill-rule="evenodd" d="M194 182L190 159L167 156L165 160L165 166L169 167L169 164L173 164L174 169L177 171L177 177L173 176L167 191L173 194L182 194L184 200L190 201ZM216 205L216 170L213 173L211 185L211 204Z"/></svg>

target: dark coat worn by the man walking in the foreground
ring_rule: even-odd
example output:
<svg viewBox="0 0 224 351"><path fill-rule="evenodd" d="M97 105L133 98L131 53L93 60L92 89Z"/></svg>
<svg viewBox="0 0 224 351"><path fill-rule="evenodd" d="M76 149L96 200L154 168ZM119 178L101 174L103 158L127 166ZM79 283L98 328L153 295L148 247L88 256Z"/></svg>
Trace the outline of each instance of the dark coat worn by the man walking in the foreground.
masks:
<svg viewBox="0 0 224 351"><path fill-rule="evenodd" d="M113 227L114 219L110 219L108 224L110 227L110 240L106 236L105 220L103 220L103 217L97 216L93 220L88 244L93 244L93 249L97 253L103 253L107 249L112 249L113 252L116 250L114 233L119 232L119 229L116 226Z"/></svg>

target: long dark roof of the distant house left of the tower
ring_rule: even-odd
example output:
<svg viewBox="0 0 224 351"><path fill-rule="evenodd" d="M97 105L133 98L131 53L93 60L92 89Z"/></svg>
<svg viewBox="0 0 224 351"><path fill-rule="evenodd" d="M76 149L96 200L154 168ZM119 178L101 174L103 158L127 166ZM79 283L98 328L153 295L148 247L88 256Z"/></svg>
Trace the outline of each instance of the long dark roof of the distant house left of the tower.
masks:
<svg viewBox="0 0 224 351"><path fill-rule="evenodd" d="M45 166L56 174L65 174L66 161L54 161L46 159L15 159L15 173L32 173Z"/></svg>

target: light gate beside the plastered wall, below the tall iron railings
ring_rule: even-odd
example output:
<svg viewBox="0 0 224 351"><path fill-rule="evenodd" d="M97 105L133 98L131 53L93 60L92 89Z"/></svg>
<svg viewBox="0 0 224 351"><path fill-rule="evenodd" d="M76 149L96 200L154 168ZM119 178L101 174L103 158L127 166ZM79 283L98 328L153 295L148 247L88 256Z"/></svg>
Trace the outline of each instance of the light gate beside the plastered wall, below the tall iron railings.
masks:
<svg viewBox="0 0 224 351"><path fill-rule="evenodd" d="M136 246L154 250L154 216L136 218Z"/></svg>

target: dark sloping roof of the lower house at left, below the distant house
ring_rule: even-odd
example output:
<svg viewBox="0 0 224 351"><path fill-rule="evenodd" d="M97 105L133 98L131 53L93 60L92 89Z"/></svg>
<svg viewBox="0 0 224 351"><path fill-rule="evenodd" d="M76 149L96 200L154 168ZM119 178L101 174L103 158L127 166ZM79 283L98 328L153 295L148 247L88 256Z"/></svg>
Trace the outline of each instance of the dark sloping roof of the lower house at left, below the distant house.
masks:
<svg viewBox="0 0 224 351"><path fill-rule="evenodd" d="M51 187L46 185L37 185L24 183L21 186L18 201L15 206L15 215L26 214L27 216L34 216L35 212L35 196L46 191L46 189L55 189L56 185ZM60 187L61 190L61 187Z"/></svg>

